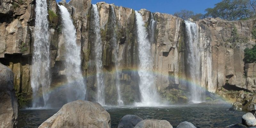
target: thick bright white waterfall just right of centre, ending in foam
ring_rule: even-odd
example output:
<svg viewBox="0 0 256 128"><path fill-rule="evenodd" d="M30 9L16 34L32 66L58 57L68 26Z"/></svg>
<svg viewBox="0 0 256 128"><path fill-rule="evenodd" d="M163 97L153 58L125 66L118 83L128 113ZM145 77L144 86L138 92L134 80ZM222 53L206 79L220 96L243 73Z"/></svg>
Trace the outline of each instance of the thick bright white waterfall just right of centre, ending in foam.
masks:
<svg viewBox="0 0 256 128"><path fill-rule="evenodd" d="M159 97L155 87L153 74L153 58L150 56L151 44L147 38L145 23L139 12L135 11L137 25L137 42L139 45L139 69L140 76L139 88L141 102L135 103L136 106L159 106Z"/></svg>

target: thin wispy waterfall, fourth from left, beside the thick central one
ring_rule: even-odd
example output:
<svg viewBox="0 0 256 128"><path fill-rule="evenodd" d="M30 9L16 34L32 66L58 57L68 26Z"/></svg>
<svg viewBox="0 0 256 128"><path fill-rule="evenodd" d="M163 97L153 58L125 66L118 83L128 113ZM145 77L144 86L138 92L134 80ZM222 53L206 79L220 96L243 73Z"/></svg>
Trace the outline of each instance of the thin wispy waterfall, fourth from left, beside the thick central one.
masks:
<svg viewBox="0 0 256 128"><path fill-rule="evenodd" d="M114 10L114 7L111 6L111 13L110 13L110 16L111 16L111 24L113 24L113 35L112 35L112 38L111 38L111 42L113 44L113 52L114 52L114 60L115 60L115 79L116 79L116 91L117 91L117 103L118 103L118 106L124 106L124 102L122 100L122 97L121 97L121 92L120 92L120 74L121 72L118 70L118 67L120 66L120 64L118 63L118 49L119 49L119 45L117 45L117 41L116 41L116 15L115 15L115 10Z"/></svg>

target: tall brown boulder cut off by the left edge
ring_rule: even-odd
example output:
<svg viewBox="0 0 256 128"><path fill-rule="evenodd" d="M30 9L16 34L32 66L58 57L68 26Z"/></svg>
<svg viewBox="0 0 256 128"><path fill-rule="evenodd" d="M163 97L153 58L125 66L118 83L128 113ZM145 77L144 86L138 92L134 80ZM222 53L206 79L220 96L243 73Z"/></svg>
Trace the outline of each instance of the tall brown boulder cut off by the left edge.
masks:
<svg viewBox="0 0 256 128"><path fill-rule="evenodd" d="M13 88L13 72L0 63L0 127L15 127L17 116L18 103Z"/></svg>

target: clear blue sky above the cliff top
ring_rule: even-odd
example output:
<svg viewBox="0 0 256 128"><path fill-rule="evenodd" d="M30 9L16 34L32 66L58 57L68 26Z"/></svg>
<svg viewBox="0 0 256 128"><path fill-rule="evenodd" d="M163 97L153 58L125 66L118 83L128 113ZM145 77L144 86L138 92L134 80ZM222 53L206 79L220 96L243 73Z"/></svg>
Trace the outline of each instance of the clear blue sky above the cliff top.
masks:
<svg viewBox="0 0 256 128"><path fill-rule="evenodd" d="M59 2L61 0L57 0ZM69 0L66 0L67 2ZM190 10L195 13L205 13L204 10L209 7L214 7L214 4L221 0L92 0L92 4L104 1L108 4L114 3L117 6L140 10L147 9L151 12L162 12L173 14L180 10Z"/></svg>

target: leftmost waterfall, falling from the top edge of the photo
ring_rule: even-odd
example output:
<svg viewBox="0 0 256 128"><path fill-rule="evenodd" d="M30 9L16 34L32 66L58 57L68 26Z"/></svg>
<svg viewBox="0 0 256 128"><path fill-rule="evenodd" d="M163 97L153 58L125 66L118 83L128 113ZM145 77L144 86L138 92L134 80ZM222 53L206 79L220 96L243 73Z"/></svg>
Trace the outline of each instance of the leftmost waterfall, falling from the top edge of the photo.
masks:
<svg viewBox="0 0 256 128"><path fill-rule="evenodd" d="M34 49L32 56L31 87L33 91L33 108L42 107L38 89L42 87L44 107L49 99L50 77L50 43L48 32L48 11L46 0L36 0L36 20L34 30Z"/></svg>

